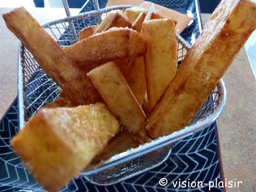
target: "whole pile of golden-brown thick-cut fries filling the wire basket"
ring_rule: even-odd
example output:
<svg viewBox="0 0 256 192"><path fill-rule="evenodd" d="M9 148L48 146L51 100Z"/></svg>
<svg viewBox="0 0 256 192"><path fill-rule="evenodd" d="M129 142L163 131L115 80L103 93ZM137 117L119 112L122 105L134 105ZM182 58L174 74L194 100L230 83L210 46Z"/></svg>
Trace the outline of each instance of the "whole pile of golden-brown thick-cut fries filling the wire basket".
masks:
<svg viewBox="0 0 256 192"><path fill-rule="evenodd" d="M222 1L178 71L176 21L145 9L111 11L65 49L25 8L4 14L61 89L12 147L45 189L57 191L90 163L182 129L255 29L255 8Z"/></svg>

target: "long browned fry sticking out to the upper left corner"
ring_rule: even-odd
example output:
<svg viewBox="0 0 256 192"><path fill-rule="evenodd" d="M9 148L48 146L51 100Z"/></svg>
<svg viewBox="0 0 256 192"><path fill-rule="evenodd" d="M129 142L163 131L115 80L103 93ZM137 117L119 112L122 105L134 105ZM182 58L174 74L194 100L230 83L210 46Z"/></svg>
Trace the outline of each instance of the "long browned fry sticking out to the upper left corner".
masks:
<svg viewBox="0 0 256 192"><path fill-rule="evenodd" d="M86 74L82 73L24 7L3 14L3 18L8 29L23 42L42 70L65 91L74 104L89 104L100 100L100 95Z"/></svg>

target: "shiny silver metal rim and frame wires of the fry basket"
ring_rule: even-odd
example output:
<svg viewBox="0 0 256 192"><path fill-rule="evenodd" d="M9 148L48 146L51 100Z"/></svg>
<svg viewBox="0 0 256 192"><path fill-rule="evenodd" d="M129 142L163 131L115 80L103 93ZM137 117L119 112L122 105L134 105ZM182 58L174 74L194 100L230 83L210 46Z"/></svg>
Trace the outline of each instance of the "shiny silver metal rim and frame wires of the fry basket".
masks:
<svg viewBox="0 0 256 192"><path fill-rule="evenodd" d="M95 10L95 11L89 11L86 13L79 14L77 16L70 16L70 17L66 17L63 19L55 20L53 22L42 25L42 27L49 28L50 26L53 26L53 25L56 26L56 24L59 24L59 23L69 23L71 26L73 26L74 25L73 20L83 19L84 17L92 17L92 16L100 18L100 19L98 19L98 22L100 22L101 15L103 13L107 13L111 10L116 10L116 9L124 10L129 7L131 7L131 6L114 6L114 7L99 9L99 10ZM75 38L76 32L75 32L75 30L73 30L73 28L72 28L72 33L74 33L74 39L77 40ZM177 34L177 37L178 37L178 42L183 46L182 47L182 57L181 57L181 62L182 62L183 48L185 48L188 51L190 49L190 45L187 44L187 42L180 35ZM25 115L26 115L26 95L25 95L26 82L24 79L24 74L25 74L24 60L26 58L24 56L24 52L25 52L25 48L22 45L20 45L19 49L18 49L18 106L19 106L19 127L20 127L20 129L22 129L22 127L25 124ZM215 91L214 93L218 94L218 100L213 101L213 104L214 104L213 112L210 113L209 115L207 115L207 117L205 117L204 119L199 120L196 123L192 123L192 124L184 127L184 129L182 129L180 131L174 132L174 133L164 136L164 137L160 137L158 139L153 140L150 143L145 143L137 148L133 148L127 152L118 154L109 160L101 162L98 165L94 165L91 167L91 169L82 172L80 174L80 176L86 177L87 180L89 180L90 182L97 184L97 185L110 185L110 184L114 184L114 183L123 181L127 178L133 177L135 175L145 172L146 170L149 170L151 168L154 168L154 167L160 165L169 156L171 148L168 150L168 153L166 153L166 156L164 156L161 161L155 162L155 164L153 166L148 167L144 170L135 172L135 173L124 175L122 178L113 180L112 182L99 183L99 182L95 182L95 181L91 180L90 177L88 177L88 176L103 172L104 170L111 169L111 168L113 168L117 165L120 165L122 163L132 161L132 160L139 158L143 155L146 155L150 152L157 151L162 147L170 146L171 144L173 144L189 135L192 135L198 131L201 131L205 127L209 126L211 123L215 122L216 119L220 116L221 112L223 111L224 105L226 102L226 89L225 89L225 84L222 79L220 79L220 81L217 84L217 87L215 89L217 91Z"/></svg>

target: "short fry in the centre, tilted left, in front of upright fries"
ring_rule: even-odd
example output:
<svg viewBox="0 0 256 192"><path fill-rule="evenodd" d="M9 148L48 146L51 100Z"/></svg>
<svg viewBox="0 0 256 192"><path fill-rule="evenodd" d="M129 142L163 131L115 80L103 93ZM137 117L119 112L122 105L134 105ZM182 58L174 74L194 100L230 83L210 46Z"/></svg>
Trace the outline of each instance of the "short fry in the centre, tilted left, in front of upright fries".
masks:
<svg viewBox="0 0 256 192"><path fill-rule="evenodd" d="M115 63L105 63L88 76L124 129L131 134L145 133L145 114Z"/></svg>

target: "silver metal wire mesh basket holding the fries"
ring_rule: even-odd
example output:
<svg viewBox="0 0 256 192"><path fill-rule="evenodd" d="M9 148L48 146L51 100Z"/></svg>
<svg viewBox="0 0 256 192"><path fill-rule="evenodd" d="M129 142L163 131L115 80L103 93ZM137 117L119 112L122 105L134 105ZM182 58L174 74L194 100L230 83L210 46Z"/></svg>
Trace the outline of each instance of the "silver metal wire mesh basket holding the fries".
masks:
<svg viewBox="0 0 256 192"><path fill-rule="evenodd" d="M87 26L97 25L101 17L111 10L125 10L131 6L116 6L90 11L77 16L67 17L48 23L42 27L61 45L67 47L78 40L79 31ZM178 66L187 54L190 46L178 36ZM33 55L22 45L18 55L18 101L19 127L41 107L59 96L59 87L42 71ZM192 135L214 122L222 112L226 100L224 82L219 81L209 95L198 114L181 131L158 138L137 148L118 154L100 164L87 167L81 176L98 185L120 182L164 162L169 156L172 145L184 137Z"/></svg>

